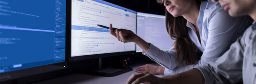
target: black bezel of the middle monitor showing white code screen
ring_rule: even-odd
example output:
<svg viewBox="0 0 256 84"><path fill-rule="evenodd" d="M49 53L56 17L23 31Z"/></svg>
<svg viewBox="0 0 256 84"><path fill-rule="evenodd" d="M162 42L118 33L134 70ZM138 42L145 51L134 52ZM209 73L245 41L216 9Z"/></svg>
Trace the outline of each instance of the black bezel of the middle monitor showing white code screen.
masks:
<svg viewBox="0 0 256 84"><path fill-rule="evenodd" d="M106 1L107 2L107 1ZM109 2L110 3L110 2ZM113 53L104 53L104 54L93 54L93 55L82 55L82 56L75 56L75 57L72 57L71 56L71 16L72 16L72 14L71 14L71 12L72 12L72 0L69 0L69 4L67 4L67 5L69 5L69 6L67 6L67 8L68 8L68 10L70 11L69 12L69 16L68 16L68 18L70 19L69 21L70 21L70 24L69 24L69 30L67 31L66 30L66 35L69 35L70 37L67 39L66 38L66 40L68 41L66 41L67 43L69 43L68 44L68 46L66 46L66 47L69 47L69 52L70 53L68 53L67 55L69 55L69 61L79 61L79 60L88 60L88 59L97 59L97 58L103 58L103 57L113 57L113 56L121 56L121 55L129 55L129 54L134 54L134 53L136 53L136 44L134 44L135 45L135 50L131 50L131 51L124 51L124 52L113 52ZM114 3L112 3L112 4L114 4ZM116 5L116 4L115 4ZM118 5L119 6L119 5ZM122 6L121 6L122 7ZM124 7L125 8L125 7ZM126 9L128 9L128 8L126 8ZM136 12L136 31L137 31L137 12ZM136 32L135 32L136 33Z"/></svg>

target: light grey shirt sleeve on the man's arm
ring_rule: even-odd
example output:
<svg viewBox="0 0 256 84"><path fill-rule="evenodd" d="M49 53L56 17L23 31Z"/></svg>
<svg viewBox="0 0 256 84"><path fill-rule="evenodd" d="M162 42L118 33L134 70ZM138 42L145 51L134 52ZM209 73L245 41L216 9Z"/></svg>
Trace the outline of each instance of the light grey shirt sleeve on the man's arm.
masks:
<svg viewBox="0 0 256 84"><path fill-rule="evenodd" d="M212 60L207 66L197 67L204 76L205 84L236 84L242 81L244 36L221 57Z"/></svg>

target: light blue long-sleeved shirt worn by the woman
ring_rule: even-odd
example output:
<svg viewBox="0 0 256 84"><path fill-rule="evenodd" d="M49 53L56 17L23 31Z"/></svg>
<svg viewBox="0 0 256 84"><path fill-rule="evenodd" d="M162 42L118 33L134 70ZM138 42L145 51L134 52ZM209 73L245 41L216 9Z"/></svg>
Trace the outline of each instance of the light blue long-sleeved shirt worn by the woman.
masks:
<svg viewBox="0 0 256 84"><path fill-rule="evenodd" d="M214 3L211 0L201 1L197 20L201 44L194 31L193 24L187 22L190 39L203 52L198 63L179 66L173 47L166 52L150 44L148 51L142 52L142 54L164 66L165 75L185 72L195 67L206 65L208 61L224 54L230 45L242 36L246 28L249 27L248 23L252 23L252 19L248 16L232 18L228 15L228 12L220 7L219 3Z"/></svg>

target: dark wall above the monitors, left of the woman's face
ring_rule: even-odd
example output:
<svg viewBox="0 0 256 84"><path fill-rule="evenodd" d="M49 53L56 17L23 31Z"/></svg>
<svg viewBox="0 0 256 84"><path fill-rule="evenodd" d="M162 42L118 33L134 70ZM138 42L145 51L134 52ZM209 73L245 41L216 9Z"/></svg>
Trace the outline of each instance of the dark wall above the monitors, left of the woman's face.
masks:
<svg viewBox="0 0 256 84"><path fill-rule="evenodd" d="M110 3L134 10L136 12L145 12L165 15L165 7L156 0L105 0Z"/></svg>

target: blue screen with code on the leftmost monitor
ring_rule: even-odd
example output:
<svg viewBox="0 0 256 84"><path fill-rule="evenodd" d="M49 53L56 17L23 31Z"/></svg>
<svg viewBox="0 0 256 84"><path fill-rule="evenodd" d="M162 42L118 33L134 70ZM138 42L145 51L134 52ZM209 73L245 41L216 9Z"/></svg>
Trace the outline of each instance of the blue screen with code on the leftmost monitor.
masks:
<svg viewBox="0 0 256 84"><path fill-rule="evenodd" d="M0 73L65 61L66 0L0 0Z"/></svg>

